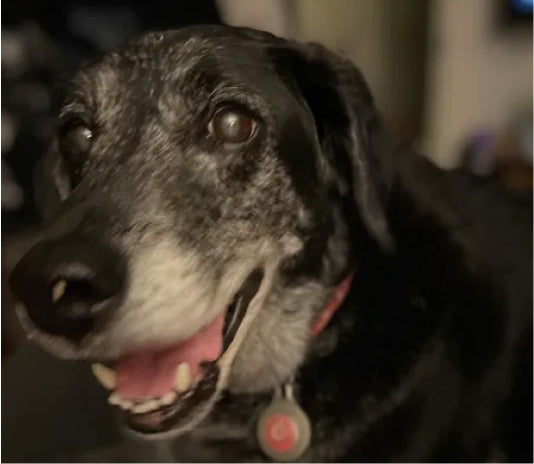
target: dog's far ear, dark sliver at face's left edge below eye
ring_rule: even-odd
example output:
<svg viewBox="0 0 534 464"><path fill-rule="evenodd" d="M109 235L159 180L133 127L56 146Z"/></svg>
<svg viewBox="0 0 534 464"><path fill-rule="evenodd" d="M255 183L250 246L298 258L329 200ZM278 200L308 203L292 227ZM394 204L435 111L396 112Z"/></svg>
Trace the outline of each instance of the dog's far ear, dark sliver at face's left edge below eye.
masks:
<svg viewBox="0 0 534 464"><path fill-rule="evenodd" d="M44 220L49 219L67 197L70 181L65 175L63 158L54 141L37 162L33 173L35 206Z"/></svg>

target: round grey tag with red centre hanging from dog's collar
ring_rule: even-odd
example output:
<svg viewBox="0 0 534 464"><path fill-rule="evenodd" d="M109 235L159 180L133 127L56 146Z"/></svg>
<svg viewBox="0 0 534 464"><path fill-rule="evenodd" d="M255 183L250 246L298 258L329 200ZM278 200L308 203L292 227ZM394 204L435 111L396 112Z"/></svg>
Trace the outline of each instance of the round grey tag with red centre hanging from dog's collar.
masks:
<svg viewBox="0 0 534 464"><path fill-rule="evenodd" d="M292 461L310 444L310 420L295 401L276 398L261 413L256 435L262 451L271 459Z"/></svg>

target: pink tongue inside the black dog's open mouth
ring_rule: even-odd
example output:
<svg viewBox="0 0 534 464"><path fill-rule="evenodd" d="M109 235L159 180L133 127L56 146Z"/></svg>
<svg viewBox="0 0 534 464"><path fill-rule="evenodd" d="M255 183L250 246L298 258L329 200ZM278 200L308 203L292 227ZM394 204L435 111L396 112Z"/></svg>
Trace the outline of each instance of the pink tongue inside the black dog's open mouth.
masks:
<svg viewBox="0 0 534 464"><path fill-rule="evenodd" d="M143 350L121 358L116 367L116 391L124 399L163 396L174 388L176 367L186 362L193 378L203 361L214 361L222 351L224 313L179 345Z"/></svg>

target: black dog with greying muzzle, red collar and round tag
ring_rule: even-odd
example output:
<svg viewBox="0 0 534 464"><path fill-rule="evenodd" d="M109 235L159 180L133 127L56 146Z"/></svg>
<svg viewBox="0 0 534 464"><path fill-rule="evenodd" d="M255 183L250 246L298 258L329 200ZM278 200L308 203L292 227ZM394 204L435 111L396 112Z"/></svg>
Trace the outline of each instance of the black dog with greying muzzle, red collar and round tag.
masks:
<svg viewBox="0 0 534 464"><path fill-rule="evenodd" d="M149 33L66 89L18 315L179 461L513 460L531 287L512 304L446 178L319 44Z"/></svg>

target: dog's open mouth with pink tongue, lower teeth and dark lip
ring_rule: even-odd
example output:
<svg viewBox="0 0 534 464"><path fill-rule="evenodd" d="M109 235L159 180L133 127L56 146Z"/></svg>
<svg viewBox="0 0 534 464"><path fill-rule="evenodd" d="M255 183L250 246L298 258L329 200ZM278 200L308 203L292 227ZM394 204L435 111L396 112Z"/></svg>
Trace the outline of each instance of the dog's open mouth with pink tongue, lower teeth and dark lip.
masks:
<svg viewBox="0 0 534 464"><path fill-rule="evenodd" d="M111 390L109 403L130 429L147 436L177 433L207 415L225 388L222 373L243 338L239 329L262 280L263 271L255 269L223 313L179 344L130 353L113 366L93 364Z"/></svg>

